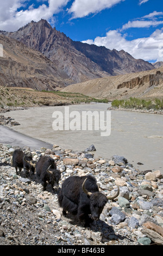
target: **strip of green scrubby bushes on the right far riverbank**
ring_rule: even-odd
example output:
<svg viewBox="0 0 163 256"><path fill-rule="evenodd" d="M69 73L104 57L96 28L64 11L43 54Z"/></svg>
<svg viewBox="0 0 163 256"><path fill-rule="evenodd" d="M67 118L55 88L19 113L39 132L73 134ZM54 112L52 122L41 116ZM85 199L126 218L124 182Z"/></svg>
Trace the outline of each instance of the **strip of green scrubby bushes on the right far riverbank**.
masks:
<svg viewBox="0 0 163 256"><path fill-rule="evenodd" d="M163 99L145 100L136 97L130 97L128 100L114 100L111 102L112 107L117 108L138 108L138 109L163 109Z"/></svg>

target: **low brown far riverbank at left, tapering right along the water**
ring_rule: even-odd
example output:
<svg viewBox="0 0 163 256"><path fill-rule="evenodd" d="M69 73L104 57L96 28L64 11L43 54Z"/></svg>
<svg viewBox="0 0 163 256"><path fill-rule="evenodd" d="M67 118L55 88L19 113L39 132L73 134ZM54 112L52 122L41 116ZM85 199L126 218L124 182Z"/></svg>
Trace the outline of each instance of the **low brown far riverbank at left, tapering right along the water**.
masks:
<svg viewBox="0 0 163 256"><path fill-rule="evenodd" d="M108 102L80 93L60 91L38 91L32 88L0 87L0 113L11 109L23 109L40 106L65 106L81 102Z"/></svg>

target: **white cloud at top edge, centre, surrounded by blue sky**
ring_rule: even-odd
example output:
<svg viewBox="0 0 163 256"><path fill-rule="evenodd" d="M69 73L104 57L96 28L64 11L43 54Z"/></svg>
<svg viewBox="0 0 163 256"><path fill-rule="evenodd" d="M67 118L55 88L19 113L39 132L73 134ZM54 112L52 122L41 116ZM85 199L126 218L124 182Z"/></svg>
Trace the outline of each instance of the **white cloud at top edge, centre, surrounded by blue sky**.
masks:
<svg viewBox="0 0 163 256"><path fill-rule="evenodd" d="M68 13L73 13L72 19L81 18L89 14L98 13L106 8L111 8L122 1L125 0L75 0Z"/></svg>

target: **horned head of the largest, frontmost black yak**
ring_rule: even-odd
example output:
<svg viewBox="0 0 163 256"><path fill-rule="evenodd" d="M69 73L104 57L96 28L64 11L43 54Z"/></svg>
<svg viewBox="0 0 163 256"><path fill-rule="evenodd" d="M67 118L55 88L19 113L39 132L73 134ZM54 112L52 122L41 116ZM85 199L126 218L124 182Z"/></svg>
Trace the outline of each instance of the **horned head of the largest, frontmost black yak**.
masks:
<svg viewBox="0 0 163 256"><path fill-rule="evenodd" d="M85 188L85 181L84 180L83 184L82 184L82 189L83 191L87 194L87 196L90 199L90 211L91 211L91 218L94 221L99 220L99 216L101 215L105 204L108 202L109 199L114 199L118 196L118 194L120 193L120 188L118 187L118 190L116 192L116 194L114 194L114 196L105 196L103 193L97 191L97 192L89 192L86 190Z"/></svg>

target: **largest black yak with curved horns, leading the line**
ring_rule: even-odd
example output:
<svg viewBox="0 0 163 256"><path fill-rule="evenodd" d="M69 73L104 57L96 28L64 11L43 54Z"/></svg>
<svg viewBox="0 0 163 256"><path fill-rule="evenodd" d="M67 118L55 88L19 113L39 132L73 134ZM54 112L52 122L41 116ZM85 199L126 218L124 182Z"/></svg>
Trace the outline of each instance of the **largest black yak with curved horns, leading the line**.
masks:
<svg viewBox="0 0 163 256"><path fill-rule="evenodd" d="M89 227L92 220L99 220L108 200L116 198L119 193L118 187L114 196L105 196L99 192L97 181L92 175L71 176L63 182L58 194L58 202L63 209L63 215L66 215L66 211L77 215L80 221L85 221L85 227Z"/></svg>

